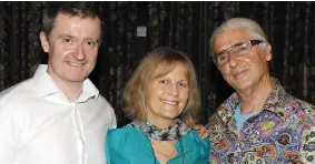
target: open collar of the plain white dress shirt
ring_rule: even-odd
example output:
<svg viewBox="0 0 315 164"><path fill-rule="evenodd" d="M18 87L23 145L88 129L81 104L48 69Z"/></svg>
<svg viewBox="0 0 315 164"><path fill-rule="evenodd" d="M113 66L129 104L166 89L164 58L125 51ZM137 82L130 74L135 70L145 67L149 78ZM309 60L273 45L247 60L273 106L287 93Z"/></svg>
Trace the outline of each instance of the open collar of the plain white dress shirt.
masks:
<svg viewBox="0 0 315 164"><path fill-rule="evenodd" d="M55 93L62 93L51 76L47 73L47 64L40 64L33 75L36 92L39 98L45 98ZM78 101L86 101L91 96L97 99L99 96L99 91L89 79L86 79L83 81L82 93Z"/></svg>

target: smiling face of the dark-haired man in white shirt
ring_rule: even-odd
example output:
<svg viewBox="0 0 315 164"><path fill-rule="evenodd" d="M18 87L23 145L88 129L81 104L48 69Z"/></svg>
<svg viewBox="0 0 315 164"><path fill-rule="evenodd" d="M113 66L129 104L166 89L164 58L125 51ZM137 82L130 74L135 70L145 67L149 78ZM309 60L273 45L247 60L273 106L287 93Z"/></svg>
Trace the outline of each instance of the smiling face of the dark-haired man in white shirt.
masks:
<svg viewBox="0 0 315 164"><path fill-rule="evenodd" d="M49 53L48 74L57 83L82 82L96 65L100 20L58 13L50 34L41 32L40 40Z"/></svg>

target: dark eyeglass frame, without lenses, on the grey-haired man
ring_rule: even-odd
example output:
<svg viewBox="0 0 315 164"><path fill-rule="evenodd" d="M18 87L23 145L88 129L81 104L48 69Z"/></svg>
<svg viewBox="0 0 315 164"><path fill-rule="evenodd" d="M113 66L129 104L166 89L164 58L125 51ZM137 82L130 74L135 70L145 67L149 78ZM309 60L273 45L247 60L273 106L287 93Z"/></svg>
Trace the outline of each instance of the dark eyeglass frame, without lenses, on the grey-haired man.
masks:
<svg viewBox="0 0 315 164"><path fill-rule="evenodd" d="M248 52L250 52L250 51L252 51L252 48L253 48L254 45L260 44L260 43L263 43L264 41L263 41L263 40L248 40L248 41L245 41L245 42L236 43L236 44L232 45L230 48L228 48L228 49L226 49L226 50L223 50L223 51L220 51L220 52L218 52L218 53L215 53L215 55L214 55L214 63L215 63L217 66L222 66L222 65L226 64L226 63L228 62L228 60L227 60L227 62L225 62L225 63L223 63L223 64L218 64L218 62L217 62L217 57L218 57L218 55L222 55L223 53L229 52L229 51L234 50L236 47L239 47L239 45L242 45L242 44L244 44L244 43L246 43L246 42L249 42L249 43L250 43L250 48L249 48L249 51L248 51ZM247 53L248 53L248 52L247 52ZM235 54L235 55L236 55L236 57L240 57L240 55L245 55L245 54L247 54L247 53L239 54L239 55L238 55L238 54ZM229 58L229 57L228 57L228 58Z"/></svg>

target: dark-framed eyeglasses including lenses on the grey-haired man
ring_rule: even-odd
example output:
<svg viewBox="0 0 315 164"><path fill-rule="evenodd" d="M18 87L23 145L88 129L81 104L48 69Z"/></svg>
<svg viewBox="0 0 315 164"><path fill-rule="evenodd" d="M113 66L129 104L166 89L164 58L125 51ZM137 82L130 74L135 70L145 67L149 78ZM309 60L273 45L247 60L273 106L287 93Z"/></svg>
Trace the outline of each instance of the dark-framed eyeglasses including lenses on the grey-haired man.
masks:
<svg viewBox="0 0 315 164"><path fill-rule="evenodd" d="M224 65L229 61L229 54L234 54L236 57L247 54L252 51L252 47L263 42L264 41L262 40L249 40L246 42L236 43L233 47L216 53L214 57L214 62L217 66Z"/></svg>

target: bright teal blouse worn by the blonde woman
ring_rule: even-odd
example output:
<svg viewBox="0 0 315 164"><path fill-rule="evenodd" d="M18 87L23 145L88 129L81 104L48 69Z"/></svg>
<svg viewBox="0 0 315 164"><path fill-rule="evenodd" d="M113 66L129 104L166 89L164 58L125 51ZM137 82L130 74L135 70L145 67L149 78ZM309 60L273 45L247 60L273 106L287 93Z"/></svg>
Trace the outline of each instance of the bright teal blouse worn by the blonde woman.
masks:
<svg viewBox="0 0 315 164"><path fill-rule="evenodd" d="M209 140L201 140L196 131L188 132L177 142L177 155L167 164L181 164L181 152L185 153L185 164L208 164L210 151ZM155 157L149 139L140 131L127 125L112 129L107 133L106 142L107 164L159 164Z"/></svg>

